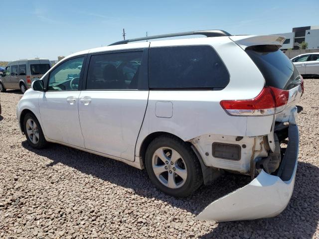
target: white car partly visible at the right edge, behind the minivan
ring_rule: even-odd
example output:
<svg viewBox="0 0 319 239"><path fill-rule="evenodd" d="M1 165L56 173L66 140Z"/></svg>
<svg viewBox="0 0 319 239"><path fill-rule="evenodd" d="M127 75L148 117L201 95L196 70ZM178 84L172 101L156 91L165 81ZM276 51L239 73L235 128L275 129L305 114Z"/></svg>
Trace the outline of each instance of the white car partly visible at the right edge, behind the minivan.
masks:
<svg viewBox="0 0 319 239"><path fill-rule="evenodd" d="M319 52L301 54L291 59L300 74L319 76Z"/></svg>

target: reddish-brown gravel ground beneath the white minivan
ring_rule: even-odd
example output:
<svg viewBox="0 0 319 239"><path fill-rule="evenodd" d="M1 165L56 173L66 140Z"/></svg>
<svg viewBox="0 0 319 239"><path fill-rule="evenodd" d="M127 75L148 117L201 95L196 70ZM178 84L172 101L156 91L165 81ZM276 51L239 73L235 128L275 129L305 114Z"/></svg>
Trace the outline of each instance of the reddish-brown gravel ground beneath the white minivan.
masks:
<svg viewBox="0 0 319 239"><path fill-rule="evenodd" d="M224 176L185 199L164 195L145 171L124 163L58 144L30 148L15 118L21 95L0 93L0 238L319 238L318 92L319 79L306 79L287 209L276 218L231 223L193 219L249 178Z"/></svg>

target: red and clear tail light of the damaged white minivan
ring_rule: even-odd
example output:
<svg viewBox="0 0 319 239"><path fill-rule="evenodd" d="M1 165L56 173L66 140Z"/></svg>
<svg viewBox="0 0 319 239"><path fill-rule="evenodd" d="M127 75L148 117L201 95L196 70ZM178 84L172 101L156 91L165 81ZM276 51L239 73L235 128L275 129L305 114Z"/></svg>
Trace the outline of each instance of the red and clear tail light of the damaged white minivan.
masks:
<svg viewBox="0 0 319 239"><path fill-rule="evenodd" d="M221 101L221 107L232 116L269 116L282 112L289 99L289 91L264 87L250 100Z"/></svg>

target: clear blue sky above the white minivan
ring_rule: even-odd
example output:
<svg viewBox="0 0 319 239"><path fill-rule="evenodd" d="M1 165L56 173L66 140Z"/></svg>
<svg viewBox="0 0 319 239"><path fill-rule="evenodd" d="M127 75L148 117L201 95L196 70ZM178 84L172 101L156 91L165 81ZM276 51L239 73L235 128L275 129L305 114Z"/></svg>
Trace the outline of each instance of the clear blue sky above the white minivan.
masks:
<svg viewBox="0 0 319 239"><path fill-rule="evenodd" d="M239 3L240 2L240 3ZM319 0L9 0L0 60L57 59L127 38L189 30L275 34L319 25Z"/></svg>

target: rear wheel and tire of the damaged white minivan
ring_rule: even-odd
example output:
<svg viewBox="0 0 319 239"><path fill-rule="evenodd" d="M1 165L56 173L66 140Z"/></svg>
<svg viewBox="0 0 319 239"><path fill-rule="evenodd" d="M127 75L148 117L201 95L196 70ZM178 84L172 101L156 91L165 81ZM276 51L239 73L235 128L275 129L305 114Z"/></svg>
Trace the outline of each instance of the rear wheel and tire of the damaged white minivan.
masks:
<svg viewBox="0 0 319 239"><path fill-rule="evenodd" d="M203 183L194 151L186 142L170 135L160 136L150 143L145 167L152 183L174 197L189 196Z"/></svg>

